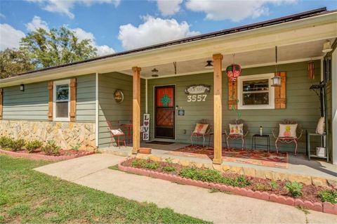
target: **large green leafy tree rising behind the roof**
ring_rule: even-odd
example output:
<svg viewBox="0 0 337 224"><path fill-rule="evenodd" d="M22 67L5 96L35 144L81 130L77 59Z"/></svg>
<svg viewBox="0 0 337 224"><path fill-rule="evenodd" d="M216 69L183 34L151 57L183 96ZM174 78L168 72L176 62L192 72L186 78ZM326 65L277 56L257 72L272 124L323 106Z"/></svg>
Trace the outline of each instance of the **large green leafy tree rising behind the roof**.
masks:
<svg viewBox="0 0 337 224"><path fill-rule="evenodd" d="M21 39L20 50L25 52L36 68L51 67L97 56L90 39L79 41L67 27L39 28Z"/></svg>

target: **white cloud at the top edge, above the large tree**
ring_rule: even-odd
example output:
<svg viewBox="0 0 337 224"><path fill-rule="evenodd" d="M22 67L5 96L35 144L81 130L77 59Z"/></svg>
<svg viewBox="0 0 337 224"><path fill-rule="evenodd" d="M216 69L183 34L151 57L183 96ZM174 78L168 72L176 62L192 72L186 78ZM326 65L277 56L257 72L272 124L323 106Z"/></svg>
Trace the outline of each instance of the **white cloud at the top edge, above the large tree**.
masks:
<svg viewBox="0 0 337 224"><path fill-rule="evenodd" d="M93 4L114 4L118 6L121 0L26 0L29 2L37 3L46 11L53 13L60 13L67 15L73 19L75 15L71 12L74 8L74 4L84 4L85 6L91 6Z"/></svg>

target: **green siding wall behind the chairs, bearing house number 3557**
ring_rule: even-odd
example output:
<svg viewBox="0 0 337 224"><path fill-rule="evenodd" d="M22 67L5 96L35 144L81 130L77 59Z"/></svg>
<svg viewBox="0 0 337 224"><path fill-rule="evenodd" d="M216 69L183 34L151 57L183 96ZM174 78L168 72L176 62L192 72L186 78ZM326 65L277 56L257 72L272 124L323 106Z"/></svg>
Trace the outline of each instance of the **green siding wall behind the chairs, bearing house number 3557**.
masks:
<svg viewBox="0 0 337 224"><path fill-rule="evenodd" d="M315 61L315 81L310 81L307 74L307 62L298 62L286 65L279 65L279 71L286 71L286 109L284 110L240 110L242 119L249 127L247 147L251 147L251 135L258 133L260 126L263 126L265 133L272 133L272 129L278 126L279 121L292 119L298 121L303 129L315 131L317 121L320 117L319 98L309 90L312 83L318 83L320 79L320 62ZM242 75L265 74L275 72L275 66L255 67L242 70ZM213 123L213 73L193 74L180 77L169 77L163 79L149 79L149 112L151 113L150 136L154 136L153 117L153 90L154 86L176 84L176 105L185 109L185 116L176 117L176 140L178 142L190 142L190 133L194 125L200 119L209 119ZM187 103L187 95L184 90L191 84L209 84L211 93L206 98L206 102ZM228 109L227 105L227 75L223 72L223 128L237 117L237 113ZM277 129L278 131L278 129ZM225 142L225 138L223 138ZM274 138L271 135L271 144L274 145ZM240 143L232 143L231 146L239 147ZM305 136L300 141L300 151L305 150ZM282 145L282 150L293 151L293 145Z"/></svg>

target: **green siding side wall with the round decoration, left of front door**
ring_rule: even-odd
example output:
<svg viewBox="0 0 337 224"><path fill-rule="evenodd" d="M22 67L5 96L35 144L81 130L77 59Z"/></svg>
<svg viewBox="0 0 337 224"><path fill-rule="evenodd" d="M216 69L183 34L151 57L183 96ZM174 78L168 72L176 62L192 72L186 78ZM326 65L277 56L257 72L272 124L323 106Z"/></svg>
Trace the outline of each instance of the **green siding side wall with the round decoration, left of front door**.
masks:
<svg viewBox="0 0 337 224"><path fill-rule="evenodd" d="M145 112L145 80L141 79L141 114ZM99 140L100 147L110 145L111 138L107 129L107 120L132 119L132 77L119 72L100 74L99 86ZM114 91L120 89L124 93L124 101L114 101Z"/></svg>

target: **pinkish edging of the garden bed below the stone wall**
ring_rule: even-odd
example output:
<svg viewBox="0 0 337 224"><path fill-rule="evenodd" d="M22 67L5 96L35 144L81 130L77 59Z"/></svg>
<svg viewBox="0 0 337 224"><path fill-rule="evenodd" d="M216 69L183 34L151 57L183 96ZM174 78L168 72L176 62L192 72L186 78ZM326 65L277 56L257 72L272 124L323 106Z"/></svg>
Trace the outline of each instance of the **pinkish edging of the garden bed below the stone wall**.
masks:
<svg viewBox="0 0 337 224"><path fill-rule="evenodd" d="M86 154L71 154L69 156L62 155L62 156L48 156L45 154L34 154L34 153L21 153L21 152L12 152L7 150L1 150L0 154L6 154L10 157L20 157L20 158L26 158L26 159L34 159L34 160L45 160L45 161L51 161L51 162L58 162L61 160L67 160L67 159L74 159L77 157L84 157L89 154L94 154L95 152L86 152Z"/></svg>

